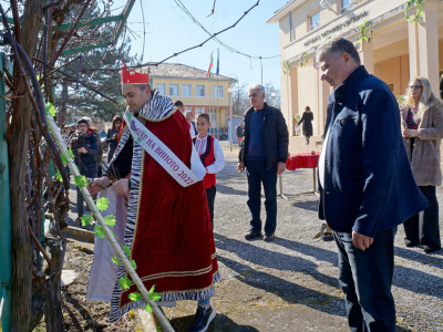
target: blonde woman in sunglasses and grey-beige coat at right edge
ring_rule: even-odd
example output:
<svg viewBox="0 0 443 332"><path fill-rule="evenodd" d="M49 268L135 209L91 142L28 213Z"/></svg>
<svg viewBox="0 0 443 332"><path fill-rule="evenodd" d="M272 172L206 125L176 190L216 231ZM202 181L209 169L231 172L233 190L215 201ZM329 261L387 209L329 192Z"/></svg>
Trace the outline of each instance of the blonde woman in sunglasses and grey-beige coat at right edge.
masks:
<svg viewBox="0 0 443 332"><path fill-rule="evenodd" d="M404 242L406 247L420 246L430 253L442 248L435 186L442 184L440 143L443 138L443 103L432 93L427 79L413 77L409 82L400 114L412 174L431 204L423 212L403 222Z"/></svg>

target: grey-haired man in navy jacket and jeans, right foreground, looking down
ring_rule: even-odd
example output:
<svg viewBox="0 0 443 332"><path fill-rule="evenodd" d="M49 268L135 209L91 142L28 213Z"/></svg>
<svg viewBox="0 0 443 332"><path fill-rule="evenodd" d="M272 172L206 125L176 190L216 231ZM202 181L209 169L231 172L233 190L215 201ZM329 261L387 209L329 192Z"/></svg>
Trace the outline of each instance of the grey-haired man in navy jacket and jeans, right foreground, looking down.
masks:
<svg viewBox="0 0 443 332"><path fill-rule="evenodd" d="M424 210L388 85L360 65L346 39L317 51L333 89L319 160L319 217L333 230L351 331L395 331L391 293L396 226Z"/></svg>

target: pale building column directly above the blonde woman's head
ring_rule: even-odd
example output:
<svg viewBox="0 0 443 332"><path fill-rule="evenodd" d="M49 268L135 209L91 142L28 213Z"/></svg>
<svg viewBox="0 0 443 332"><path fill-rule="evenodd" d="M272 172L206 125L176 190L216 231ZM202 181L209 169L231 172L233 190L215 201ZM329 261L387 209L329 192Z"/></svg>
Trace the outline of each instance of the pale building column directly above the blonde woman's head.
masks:
<svg viewBox="0 0 443 332"><path fill-rule="evenodd" d="M424 76L439 95L439 22L436 1L425 1L422 19L408 23L410 76Z"/></svg>

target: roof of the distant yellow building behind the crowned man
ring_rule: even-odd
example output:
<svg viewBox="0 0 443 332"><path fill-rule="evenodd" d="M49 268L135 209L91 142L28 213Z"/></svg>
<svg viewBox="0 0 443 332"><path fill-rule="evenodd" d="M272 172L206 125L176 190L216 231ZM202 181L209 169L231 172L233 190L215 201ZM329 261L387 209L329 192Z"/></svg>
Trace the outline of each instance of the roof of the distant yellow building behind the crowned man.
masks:
<svg viewBox="0 0 443 332"><path fill-rule="evenodd" d="M157 66L144 66L142 72L148 72L152 79L190 79L207 80L206 71L182 64L182 63L162 63ZM212 74L213 80L235 82L233 77Z"/></svg>

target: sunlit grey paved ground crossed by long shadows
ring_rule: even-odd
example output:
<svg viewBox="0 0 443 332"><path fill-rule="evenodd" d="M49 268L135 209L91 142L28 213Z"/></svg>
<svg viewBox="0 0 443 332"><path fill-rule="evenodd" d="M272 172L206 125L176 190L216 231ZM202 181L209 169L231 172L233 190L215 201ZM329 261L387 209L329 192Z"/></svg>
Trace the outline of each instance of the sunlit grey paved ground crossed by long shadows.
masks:
<svg viewBox="0 0 443 332"><path fill-rule="evenodd" d="M312 240L321 222L318 196L306 194L312 190L311 169L284 174L289 199L278 200L276 240L248 242L246 175L237 174L236 154L226 143L223 147L227 163L217 176L214 230L223 280L213 298L217 317L209 331L347 331L336 246ZM442 203L442 188L437 195ZM72 208L74 218L75 204ZM399 228L393 280L398 331L443 331L443 252L425 255L402 239ZM188 301L166 310L176 331L187 331L194 312Z"/></svg>

